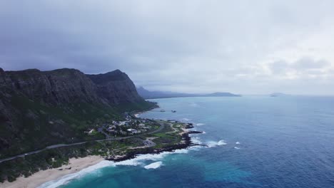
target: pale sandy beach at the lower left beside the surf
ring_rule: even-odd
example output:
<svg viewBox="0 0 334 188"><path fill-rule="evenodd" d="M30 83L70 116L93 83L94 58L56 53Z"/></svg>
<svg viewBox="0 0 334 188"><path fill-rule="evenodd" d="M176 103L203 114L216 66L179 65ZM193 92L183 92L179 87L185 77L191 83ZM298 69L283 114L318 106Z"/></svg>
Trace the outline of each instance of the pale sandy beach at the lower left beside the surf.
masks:
<svg viewBox="0 0 334 188"><path fill-rule="evenodd" d="M55 169L46 169L36 172L29 177L18 177L14 182L0 183L0 187L6 188L34 188L39 185L49 182L66 174L79 172L81 169L97 164L104 159L100 156L88 156L83 158L71 158L69 164Z"/></svg>

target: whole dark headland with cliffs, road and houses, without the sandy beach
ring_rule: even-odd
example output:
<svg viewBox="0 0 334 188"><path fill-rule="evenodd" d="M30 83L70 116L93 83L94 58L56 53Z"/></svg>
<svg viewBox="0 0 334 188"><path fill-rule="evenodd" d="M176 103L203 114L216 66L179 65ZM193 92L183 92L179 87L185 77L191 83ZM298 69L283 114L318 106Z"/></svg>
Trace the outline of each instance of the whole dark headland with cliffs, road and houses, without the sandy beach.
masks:
<svg viewBox="0 0 334 188"><path fill-rule="evenodd" d="M75 69L0 69L0 179L14 182L46 169L70 170L69 159L121 161L192 145L191 123L149 120L156 108L126 73L85 75ZM63 166L65 168L63 169Z"/></svg>

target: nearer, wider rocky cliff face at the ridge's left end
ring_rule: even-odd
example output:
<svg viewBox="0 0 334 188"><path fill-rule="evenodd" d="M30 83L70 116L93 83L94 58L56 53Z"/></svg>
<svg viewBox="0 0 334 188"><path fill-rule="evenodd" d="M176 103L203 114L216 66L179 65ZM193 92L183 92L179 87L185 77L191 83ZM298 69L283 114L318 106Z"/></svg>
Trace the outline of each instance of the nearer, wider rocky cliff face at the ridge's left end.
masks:
<svg viewBox="0 0 334 188"><path fill-rule="evenodd" d="M96 85L75 69L3 71L1 78L0 87L43 103L101 102Z"/></svg>

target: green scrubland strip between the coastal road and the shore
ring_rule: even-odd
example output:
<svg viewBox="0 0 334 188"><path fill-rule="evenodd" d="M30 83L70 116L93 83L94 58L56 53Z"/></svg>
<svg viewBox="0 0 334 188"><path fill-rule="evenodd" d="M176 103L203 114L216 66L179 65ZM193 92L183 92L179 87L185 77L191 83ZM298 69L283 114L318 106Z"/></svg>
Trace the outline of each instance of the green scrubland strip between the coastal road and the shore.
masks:
<svg viewBox="0 0 334 188"><path fill-rule="evenodd" d="M44 150L34 155L19 157L0 163L0 182L8 180L14 181L17 177L25 177L38 172L40 169L58 168L63 164L68 164L69 158L86 157L88 155L100 155L102 157L114 157L116 155L127 155L128 153L148 152L153 149L162 149L181 143L181 128L186 127L183 123L163 123L164 128L160 132L147 135L134 135L123 140L110 140L101 142L86 142L83 145L70 147L59 147L51 150ZM144 140L152 139L156 144L148 147L143 144Z"/></svg>

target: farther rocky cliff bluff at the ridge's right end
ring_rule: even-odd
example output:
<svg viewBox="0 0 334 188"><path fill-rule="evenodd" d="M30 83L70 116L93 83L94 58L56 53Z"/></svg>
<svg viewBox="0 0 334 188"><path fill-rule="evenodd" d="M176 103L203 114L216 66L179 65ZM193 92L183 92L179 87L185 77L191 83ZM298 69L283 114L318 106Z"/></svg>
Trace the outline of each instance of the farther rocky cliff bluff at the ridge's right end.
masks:
<svg viewBox="0 0 334 188"><path fill-rule="evenodd" d="M109 103L136 103L143 100L126 73L116 70L105 74L87 76L96 84L98 95L101 98L106 98Z"/></svg>

